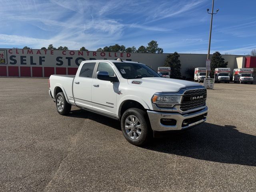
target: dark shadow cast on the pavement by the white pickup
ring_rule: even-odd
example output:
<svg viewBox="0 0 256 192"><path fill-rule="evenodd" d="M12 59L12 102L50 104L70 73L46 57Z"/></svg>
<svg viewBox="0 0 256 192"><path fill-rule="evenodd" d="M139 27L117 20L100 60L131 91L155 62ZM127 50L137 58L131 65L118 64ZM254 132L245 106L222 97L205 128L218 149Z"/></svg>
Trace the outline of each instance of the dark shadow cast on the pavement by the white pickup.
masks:
<svg viewBox="0 0 256 192"><path fill-rule="evenodd" d="M121 131L116 120L83 110L71 112L70 117L88 118ZM256 166L256 136L239 132L230 125L204 122L184 132L164 133L144 148L206 161Z"/></svg>

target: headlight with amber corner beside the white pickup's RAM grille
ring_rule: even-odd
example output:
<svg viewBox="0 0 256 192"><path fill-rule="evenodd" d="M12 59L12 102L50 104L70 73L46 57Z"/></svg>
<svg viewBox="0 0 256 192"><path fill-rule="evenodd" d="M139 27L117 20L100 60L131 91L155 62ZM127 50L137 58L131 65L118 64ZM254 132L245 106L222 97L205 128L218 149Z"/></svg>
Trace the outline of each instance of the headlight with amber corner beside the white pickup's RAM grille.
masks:
<svg viewBox="0 0 256 192"><path fill-rule="evenodd" d="M158 107L173 107L175 104L181 103L182 96L159 96L154 95L152 102Z"/></svg>

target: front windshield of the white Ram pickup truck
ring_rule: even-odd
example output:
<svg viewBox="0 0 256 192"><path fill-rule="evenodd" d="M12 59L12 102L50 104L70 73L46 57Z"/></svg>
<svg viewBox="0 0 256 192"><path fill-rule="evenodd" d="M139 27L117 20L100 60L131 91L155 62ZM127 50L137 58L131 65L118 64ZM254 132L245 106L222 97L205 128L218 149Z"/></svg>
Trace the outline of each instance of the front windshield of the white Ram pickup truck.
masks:
<svg viewBox="0 0 256 192"><path fill-rule="evenodd" d="M114 65L125 79L140 79L143 77L160 77L150 67L140 63L114 62Z"/></svg>

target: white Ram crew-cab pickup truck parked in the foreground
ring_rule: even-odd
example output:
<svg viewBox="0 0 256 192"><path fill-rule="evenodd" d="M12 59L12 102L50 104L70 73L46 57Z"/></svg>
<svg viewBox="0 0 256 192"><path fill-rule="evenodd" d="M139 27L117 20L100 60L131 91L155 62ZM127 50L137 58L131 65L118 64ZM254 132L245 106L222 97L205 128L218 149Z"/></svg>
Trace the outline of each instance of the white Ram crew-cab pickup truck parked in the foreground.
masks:
<svg viewBox="0 0 256 192"><path fill-rule="evenodd" d="M156 132L196 126L208 112L204 86L121 59L83 61L76 76L51 75L49 89L59 114L74 105L120 120L124 137L137 146Z"/></svg>

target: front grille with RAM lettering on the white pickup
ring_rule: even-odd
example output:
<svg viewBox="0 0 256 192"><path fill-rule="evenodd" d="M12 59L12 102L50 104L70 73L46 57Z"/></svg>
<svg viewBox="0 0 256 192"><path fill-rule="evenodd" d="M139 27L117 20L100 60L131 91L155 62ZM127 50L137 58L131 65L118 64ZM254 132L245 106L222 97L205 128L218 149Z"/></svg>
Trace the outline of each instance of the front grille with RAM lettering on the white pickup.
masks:
<svg viewBox="0 0 256 192"><path fill-rule="evenodd" d="M190 109L206 106L206 89L195 89L184 92L180 110L187 111Z"/></svg>

